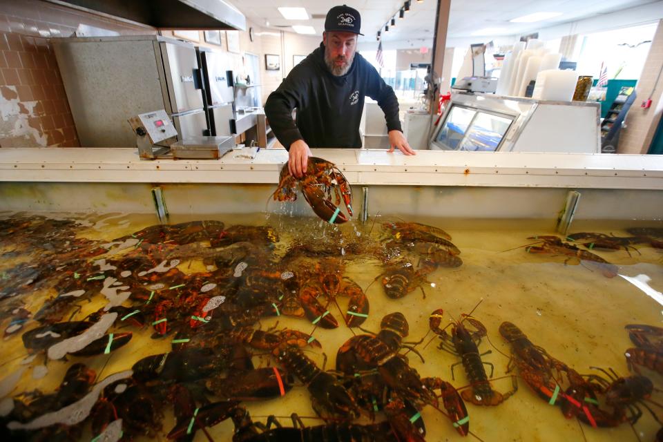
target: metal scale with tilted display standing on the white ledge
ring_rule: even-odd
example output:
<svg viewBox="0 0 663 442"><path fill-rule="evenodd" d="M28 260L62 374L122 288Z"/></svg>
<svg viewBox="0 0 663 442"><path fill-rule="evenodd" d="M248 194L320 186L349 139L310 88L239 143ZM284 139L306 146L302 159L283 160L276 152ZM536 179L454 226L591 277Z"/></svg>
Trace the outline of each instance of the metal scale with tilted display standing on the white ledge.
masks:
<svg viewBox="0 0 663 442"><path fill-rule="evenodd" d="M235 137L190 137L177 141L166 111L142 113L128 120L136 134L141 160L218 160L235 148Z"/></svg>

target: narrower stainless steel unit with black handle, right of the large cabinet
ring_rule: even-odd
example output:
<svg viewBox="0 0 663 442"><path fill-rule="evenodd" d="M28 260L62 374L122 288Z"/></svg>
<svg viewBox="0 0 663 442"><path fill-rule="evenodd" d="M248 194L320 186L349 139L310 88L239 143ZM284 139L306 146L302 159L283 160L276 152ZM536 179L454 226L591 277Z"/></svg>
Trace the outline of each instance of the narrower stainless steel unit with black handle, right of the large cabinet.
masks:
<svg viewBox="0 0 663 442"><path fill-rule="evenodd" d="M224 52L209 48L196 48L202 72L205 93L204 109L209 120L210 135L230 136L235 115L233 71Z"/></svg>

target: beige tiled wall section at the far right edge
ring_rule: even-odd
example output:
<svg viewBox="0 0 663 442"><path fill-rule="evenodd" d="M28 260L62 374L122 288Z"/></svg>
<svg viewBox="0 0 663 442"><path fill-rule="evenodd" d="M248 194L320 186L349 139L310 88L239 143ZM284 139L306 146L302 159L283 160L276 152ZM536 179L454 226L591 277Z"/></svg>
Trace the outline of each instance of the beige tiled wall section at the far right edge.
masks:
<svg viewBox="0 0 663 442"><path fill-rule="evenodd" d="M618 153L647 153L663 115L663 76L659 75L661 69L663 69L663 20L658 22L642 74L635 86L637 97L626 115L626 129L619 135ZM641 108L640 103L650 95L651 108Z"/></svg>

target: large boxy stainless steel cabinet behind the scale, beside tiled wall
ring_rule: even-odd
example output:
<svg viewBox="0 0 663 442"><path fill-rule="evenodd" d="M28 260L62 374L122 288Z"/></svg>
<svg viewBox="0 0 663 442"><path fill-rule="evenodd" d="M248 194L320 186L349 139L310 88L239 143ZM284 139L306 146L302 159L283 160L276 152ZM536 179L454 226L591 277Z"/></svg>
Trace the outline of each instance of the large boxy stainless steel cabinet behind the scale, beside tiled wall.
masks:
<svg viewBox="0 0 663 442"><path fill-rule="evenodd" d="M82 146L134 146L126 120L162 108L180 137L209 135L192 44L155 35L52 42Z"/></svg>

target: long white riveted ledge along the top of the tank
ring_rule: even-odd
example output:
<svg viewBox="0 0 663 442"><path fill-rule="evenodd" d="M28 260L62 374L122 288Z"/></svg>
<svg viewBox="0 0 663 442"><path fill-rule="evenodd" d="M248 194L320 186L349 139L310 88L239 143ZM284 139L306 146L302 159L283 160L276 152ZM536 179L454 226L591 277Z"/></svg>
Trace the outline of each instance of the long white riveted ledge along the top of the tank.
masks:
<svg viewBox="0 0 663 442"><path fill-rule="evenodd" d="M663 155L314 149L351 184L663 189ZM140 160L135 148L0 148L0 182L277 184L282 149L253 160Z"/></svg>

